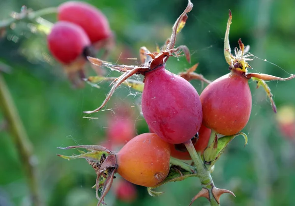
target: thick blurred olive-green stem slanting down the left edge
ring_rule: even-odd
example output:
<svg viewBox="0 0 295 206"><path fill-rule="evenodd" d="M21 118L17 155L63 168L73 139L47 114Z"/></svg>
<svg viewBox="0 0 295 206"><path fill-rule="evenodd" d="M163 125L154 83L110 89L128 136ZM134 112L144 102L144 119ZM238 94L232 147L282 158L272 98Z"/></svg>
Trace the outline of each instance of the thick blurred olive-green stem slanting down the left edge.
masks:
<svg viewBox="0 0 295 206"><path fill-rule="evenodd" d="M29 181L31 203L33 206L41 206L39 188L37 184L34 156L32 154L32 144L29 141L24 125L19 117L14 105L11 94L7 88L3 76L0 73L0 108L3 111L4 118L8 123L13 142L19 152L21 163Z"/></svg>

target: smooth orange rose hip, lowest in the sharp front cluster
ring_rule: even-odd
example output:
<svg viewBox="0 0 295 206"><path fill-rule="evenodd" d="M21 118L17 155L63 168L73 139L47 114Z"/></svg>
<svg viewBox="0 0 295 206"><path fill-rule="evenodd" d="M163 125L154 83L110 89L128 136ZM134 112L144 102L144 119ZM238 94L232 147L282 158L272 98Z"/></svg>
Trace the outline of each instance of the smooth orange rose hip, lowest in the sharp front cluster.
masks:
<svg viewBox="0 0 295 206"><path fill-rule="evenodd" d="M116 156L118 174L133 184L152 187L169 173L169 144L154 133L134 137Z"/></svg>

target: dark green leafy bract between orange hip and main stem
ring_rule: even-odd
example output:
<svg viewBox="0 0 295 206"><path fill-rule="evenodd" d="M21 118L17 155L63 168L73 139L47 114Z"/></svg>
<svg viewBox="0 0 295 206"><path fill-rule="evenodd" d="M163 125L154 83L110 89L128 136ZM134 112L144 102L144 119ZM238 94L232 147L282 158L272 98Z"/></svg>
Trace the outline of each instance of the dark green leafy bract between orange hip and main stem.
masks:
<svg viewBox="0 0 295 206"><path fill-rule="evenodd" d="M159 196L163 192L155 192L155 191L153 191L154 188L157 188L157 187L159 187L163 184L166 184L168 182L182 181L182 180L186 179L187 177L197 177L197 176L198 176L197 173L188 172L188 171L183 170L179 167L172 166L170 168L169 174L166 177L166 179L164 179L162 182L160 182L159 184L157 184L153 187L148 187L148 194L150 196Z"/></svg>

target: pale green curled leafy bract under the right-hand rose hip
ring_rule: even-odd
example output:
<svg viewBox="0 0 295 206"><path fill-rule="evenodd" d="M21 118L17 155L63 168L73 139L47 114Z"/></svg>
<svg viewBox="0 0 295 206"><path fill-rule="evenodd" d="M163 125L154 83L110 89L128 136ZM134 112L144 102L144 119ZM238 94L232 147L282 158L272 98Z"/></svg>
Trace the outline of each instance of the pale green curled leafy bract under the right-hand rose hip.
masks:
<svg viewBox="0 0 295 206"><path fill-rule="evenodd" d="M217 145L217 153L216 153L216 156L215 158L210 162L210 167L211 168L215 163L216 161L219 159L219 157L221 156L221 154L224 152L225 148L229 145L229 143L238 135L242 135L245 139L245 145L247 145L248 143L248 137L245 133L243 132L239 132L235 135L232 135L232 136L224 136L224 137L221 137L218 139L218 145Z"/></svg>

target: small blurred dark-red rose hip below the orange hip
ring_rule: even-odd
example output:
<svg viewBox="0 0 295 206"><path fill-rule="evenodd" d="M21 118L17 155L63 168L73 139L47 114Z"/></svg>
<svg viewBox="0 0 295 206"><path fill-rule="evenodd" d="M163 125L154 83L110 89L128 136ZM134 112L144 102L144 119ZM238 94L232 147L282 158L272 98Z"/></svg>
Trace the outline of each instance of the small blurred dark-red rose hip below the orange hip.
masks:
<svg viewBox="0 0 295 206"><path fill-rule="evenodd" d="M137 197L135 185L124 179L120 179L118 182L115 193L117 198L125 203L132 203Z"/></svg>

